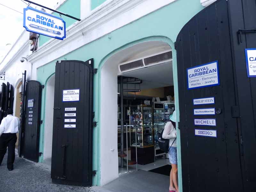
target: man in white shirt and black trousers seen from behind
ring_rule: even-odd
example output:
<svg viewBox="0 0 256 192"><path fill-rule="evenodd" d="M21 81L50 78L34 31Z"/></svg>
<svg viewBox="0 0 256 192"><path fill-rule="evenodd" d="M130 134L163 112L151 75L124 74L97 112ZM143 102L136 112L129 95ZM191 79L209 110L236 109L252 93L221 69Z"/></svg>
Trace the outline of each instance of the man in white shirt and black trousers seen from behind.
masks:
<svg viewBox="0 0 256 192"><path fill-rule="evenodd" d="M8 147L7 168L9 171L13 170L15 143L17 141L16 133L20 128L20 119L12 116L12 114L13 110L7 109L7 116L3 118L0 124L0 165Z"/></svg>

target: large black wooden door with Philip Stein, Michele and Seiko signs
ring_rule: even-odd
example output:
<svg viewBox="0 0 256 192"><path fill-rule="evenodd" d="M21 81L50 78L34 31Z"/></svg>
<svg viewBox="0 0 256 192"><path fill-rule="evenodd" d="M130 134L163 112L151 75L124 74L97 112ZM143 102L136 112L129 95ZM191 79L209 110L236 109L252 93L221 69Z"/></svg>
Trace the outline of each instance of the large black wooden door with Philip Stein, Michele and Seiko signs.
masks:
<svg viewBox="0 0 256 192"><path fill-rule="evenodd" d="M243 191L227 1L219 0L193 17L180 31L176 49L183 191ZM219 85L188 89L208 76L194 71L195 79L188 81L187 69L214 61L218 61ZM194 105L199 98L215 102L203 99L203 105ZM206 105L208 101L211 104ZM196 116L198 108L215 108L215 114ZM206 121L202 126L194 124L204 118L216 119L216 126L205 126ZM200 129L204 131L196 131ZM215 131L216 137L207 137Z"/></svg>

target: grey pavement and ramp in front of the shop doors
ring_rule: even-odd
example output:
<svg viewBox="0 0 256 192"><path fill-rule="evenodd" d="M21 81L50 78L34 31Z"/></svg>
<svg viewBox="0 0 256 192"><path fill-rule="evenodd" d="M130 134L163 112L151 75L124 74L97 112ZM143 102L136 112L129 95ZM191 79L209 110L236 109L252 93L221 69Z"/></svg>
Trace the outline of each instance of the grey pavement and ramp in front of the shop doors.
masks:
<svg viewBox="0 0 256 192"><path fill-rule="evenodd" d="M34 163L16 154L14 170L6 167L7 154L0 166L0 192L164 192L169 177L148 171L123 175L103 187L78 187L52 183L50 166ZM167 190L166 190L167 189Z"/></svg>

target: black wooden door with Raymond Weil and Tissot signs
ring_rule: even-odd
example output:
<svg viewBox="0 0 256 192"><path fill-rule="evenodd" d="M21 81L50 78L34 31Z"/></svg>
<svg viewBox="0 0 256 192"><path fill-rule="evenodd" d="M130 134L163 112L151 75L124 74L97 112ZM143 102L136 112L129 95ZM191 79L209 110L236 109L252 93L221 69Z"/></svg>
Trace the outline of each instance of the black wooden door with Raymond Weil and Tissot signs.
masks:
<svg viewBox="0 0 256 192"><path fill-rule="evenodd" d="M56 62L52 136L52 182L92 185L92 66Z"/></svg>

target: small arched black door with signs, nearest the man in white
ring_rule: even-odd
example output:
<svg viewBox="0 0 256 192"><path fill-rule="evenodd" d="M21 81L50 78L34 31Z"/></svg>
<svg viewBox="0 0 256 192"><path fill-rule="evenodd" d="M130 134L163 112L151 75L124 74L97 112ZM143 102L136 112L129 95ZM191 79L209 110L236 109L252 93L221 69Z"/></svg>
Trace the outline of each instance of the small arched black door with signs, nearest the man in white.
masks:
<svg viewBox="0 0 256 192"><path fill-rule="evenodd" d="M41 94L40 82L34 80L27 82L22 152L24 158L34 162L38 162L39 157Z"/></svg>

